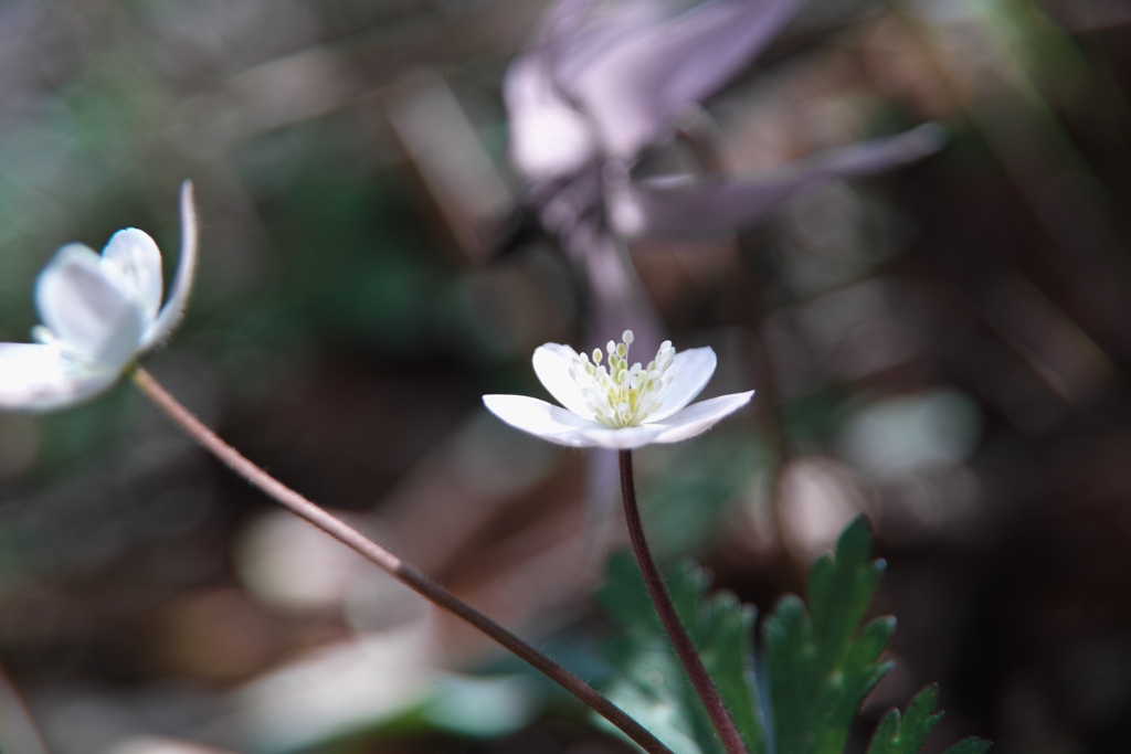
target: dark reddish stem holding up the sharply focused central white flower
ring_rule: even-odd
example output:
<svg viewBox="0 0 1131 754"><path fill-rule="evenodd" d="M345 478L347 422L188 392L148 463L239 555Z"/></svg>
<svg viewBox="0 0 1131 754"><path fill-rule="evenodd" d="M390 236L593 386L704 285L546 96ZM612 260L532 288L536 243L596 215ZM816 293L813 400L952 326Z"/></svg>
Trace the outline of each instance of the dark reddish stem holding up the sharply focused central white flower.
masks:
<svg viewBox="0 0 1131 754"><path fill-rule="evenodd" d="M726 705L723 704L723 697L719 696L718 688L715 687L715 682L707 675L707 668L703 667L703 662L699 658L699 652L696 651L694 644L691 643L691 636L688 635L683 624L680 623L680 616L675 613L675 606L672 605L672 598L667 595L667 588L659 575L659 569L656 567L656 561L651 556L651 548L648 547L648 540L644 536L644 523L640 521L640 509L637 506L636 501L636 480L632 477L632 451L620 451L620 458L621 497L624 501L624 520L628 523L632 552L636 554L637 563L640 565L640 572L644 574L644 582L648 587L648 593L651 596L651 601L656 605L656 612L659 613L659 619L664 623L668 639L672 640L672 644L675 647L675 653L679 655L680 661L683 662L683 667L691 678L691 685L696 687L699 699L702 700L703 707L707 708L707 714L710 717L710 721L715 726L715 730L718 733L718 737L722 739L727 754L746 754L742 736L734 726L731 713L726 711Z"/></svg>

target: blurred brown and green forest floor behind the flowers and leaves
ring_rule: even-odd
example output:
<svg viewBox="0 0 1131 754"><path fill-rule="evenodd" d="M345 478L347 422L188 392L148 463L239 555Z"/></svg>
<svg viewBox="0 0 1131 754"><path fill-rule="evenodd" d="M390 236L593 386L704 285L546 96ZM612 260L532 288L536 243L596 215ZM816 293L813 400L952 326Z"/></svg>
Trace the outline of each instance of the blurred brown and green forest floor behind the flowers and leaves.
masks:
<svg viewBox="0 0 1131 754"><path fill-rule="evenodd" d="M586 348L500 87L541 0L0 2L0 340L61 244L140 227L189 315L146 359L254 461L599 681L615 511L585 458L486 415ZM939 121L936 155L740 237L633 261L708 395L756 408L638 453L665 557L768 612L853 517L889 569L929 751L1131 751L1131 8L812 0L709 103L729 170ZM618 337L607 333L603 337ZM644 354L641 357L646 356ZM0 749L618 752L585 711L185 440L129 383L0 415Z"/></svg>

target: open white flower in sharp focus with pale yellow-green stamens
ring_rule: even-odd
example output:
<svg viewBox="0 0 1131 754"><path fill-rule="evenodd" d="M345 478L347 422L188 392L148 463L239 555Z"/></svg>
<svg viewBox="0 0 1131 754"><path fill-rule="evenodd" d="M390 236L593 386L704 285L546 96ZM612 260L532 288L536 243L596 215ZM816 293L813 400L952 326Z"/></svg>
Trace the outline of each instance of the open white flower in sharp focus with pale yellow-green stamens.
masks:
<svg viewBox="0 0 1131 754"><path fill-rule="evenodd" d="M526 396L484 396L483 402L512 427L559 445L630 450L693 437L754 395L736 392L689 406L715 373L715 352L676 354L665 341L647 366L629 366L632 331L625 330L623 338L608 341L607 366L599 348L592 361L556 343L534 352L535 374L566 408Z"/></svg>

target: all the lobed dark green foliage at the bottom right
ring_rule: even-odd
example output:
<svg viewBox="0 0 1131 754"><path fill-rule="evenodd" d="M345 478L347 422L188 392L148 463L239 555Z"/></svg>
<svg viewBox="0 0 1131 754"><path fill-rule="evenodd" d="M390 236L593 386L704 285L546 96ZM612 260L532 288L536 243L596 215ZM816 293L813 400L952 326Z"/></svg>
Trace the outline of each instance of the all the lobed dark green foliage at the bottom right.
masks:
<svg viewBox="0 0 1131 754"><path fill-rule="evenodd" d="M706 574L683 564L667 586L680 619L715 679L750 754L840 754L864 696L888 671L881 661L896 622L878 617L861 626L883 563L871 558L864 519L840 536L836 552L818 560L809 578L809 608L783 598L762 626L770 699L759 704L751 635L754 613L726 592L707 595ZM691 687L648 598L632 558L610 560L598 599L619 625L605 644L618 670L610 699L677 754L716 754L722 745ZM938 690L927 686L905 714L890 711L867 754L918 754L942 717ZM771 725L767 725L767 719ZM988 742L968 738L947 754L984 754Z"/></svg>

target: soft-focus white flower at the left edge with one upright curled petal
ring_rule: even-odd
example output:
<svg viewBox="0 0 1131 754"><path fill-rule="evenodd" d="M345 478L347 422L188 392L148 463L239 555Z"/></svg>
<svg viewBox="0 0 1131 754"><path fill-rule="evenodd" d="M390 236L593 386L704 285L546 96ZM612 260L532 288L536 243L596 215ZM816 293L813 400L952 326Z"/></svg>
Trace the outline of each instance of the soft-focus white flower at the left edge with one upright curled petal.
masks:
<svg viewBox="0 0 1131 754"><path fill-rule="evenodd" d="M60 249L40 272L38 343L0 343L0 410L46 410L107 389L180 321L197 260L192 185L181 188L181 258L162 300L161 250L136 228L119 231L100 257L83 244Z"/></svg>

